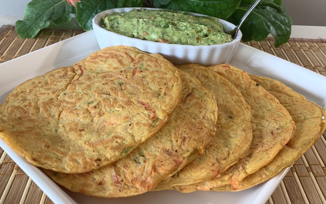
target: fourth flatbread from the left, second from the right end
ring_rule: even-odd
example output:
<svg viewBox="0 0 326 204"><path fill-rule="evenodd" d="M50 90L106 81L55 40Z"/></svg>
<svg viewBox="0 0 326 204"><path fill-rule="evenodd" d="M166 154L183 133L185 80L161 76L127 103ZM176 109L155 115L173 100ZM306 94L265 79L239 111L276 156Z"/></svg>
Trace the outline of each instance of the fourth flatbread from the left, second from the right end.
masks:
<svg viewBox="0 0 326 204"><path fill-rule="evenodd" d="M251 106L253 140L248 154L223 172L220 177L178 188L181 192L215 190L219 187L236 190L246 176L271 162L292 138L295 125L289 112L245 71L226 64L208 67L236 86ZM226 187L223 187L227 185Z"/></svg>

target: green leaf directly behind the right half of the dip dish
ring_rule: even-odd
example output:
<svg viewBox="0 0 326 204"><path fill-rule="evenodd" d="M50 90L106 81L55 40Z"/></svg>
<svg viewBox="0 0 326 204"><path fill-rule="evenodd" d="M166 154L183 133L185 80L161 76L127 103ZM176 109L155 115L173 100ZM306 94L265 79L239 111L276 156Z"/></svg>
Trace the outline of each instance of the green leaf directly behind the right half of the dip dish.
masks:
<svg viewBox="0 0 326 204"><path fill-rule="evenodd" d="M160 8L201 13L227 19L238 7L241 0L171 0Z"/></svg>

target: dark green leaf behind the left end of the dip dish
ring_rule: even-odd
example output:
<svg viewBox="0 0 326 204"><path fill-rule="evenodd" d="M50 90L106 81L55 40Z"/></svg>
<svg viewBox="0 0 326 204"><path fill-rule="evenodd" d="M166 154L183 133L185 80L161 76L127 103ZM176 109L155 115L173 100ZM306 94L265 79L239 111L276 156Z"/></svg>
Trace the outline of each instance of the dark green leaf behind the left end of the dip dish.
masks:
<svg viewBox="0 0 326 204"><path fill-rule="evenodd" d="M92 19L104 10L123 7L142 7L143 0L82 0L77 4L76 19L83 30L92 29Z"/></svg>

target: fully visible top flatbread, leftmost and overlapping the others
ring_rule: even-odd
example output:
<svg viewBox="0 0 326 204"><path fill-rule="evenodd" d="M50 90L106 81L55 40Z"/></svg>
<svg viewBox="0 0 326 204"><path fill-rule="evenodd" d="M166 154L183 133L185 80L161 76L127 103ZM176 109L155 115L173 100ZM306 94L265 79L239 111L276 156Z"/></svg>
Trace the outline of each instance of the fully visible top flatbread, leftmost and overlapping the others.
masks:
<svg viewBox="0 0 326 204"><path fill-rule="evenodd" d="M0 136L33 165L81 173L135 149L180 100L169 61L137 48L104 48L16 87L0 106Z"/></svg>

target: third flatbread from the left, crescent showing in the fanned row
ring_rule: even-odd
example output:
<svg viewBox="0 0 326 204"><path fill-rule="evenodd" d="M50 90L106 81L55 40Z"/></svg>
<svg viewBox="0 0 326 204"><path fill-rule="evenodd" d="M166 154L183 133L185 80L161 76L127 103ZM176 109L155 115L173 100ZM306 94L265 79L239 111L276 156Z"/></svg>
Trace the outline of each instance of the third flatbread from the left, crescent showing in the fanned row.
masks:
<svg viewBox="0 0 326 204"><path fill-rule="evenodd" d="M160 182L154 190L198 183L218 177L248 152L251 140L251 110L240 91L219 74L199 64L178 66L211 90L218 106L216 133L201 154L180 172Z"/></svg>

